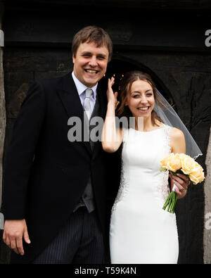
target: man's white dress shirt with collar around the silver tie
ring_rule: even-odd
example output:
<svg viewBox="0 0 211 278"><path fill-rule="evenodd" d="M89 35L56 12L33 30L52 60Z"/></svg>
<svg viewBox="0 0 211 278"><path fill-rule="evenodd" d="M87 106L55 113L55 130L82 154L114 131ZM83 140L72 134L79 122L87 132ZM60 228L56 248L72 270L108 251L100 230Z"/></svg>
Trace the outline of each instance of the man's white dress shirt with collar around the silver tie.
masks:
<svg viewBox="0 0 211 278"><path fill-rule="evenodd" d="M72 79L75 82L75 86L77 88L77 93L79 94L79 99L82 103L82 106L84 106L84 99L85 99L85 90L87 88L92 89L94 94L90 97L90 105L91 105L91 113L94 110L95 102L96 102L96 88L98 87L98 83L94 87L87 87L82 82L80 82L77 77L75 76L74 72L72 71ZM84 93L84 94L83 94Z"/></svg>

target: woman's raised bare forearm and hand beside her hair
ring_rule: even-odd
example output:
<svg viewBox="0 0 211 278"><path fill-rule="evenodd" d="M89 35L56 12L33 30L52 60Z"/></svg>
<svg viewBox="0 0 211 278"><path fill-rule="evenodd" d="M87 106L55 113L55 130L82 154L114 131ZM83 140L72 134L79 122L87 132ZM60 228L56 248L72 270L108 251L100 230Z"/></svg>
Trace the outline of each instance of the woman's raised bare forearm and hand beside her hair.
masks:
<svg viewBox="0 0 211 278"><path fill-rule="evenodd" d="M102 146L103 150L108 153L114 153L119 149L122 144L122 129L117 129L115 124L115 107L117 104L117 92L113 93L112 86L114 84L114 78L108 79L107 90L107 113L106 119L103 125L102 132Z"/></svg>

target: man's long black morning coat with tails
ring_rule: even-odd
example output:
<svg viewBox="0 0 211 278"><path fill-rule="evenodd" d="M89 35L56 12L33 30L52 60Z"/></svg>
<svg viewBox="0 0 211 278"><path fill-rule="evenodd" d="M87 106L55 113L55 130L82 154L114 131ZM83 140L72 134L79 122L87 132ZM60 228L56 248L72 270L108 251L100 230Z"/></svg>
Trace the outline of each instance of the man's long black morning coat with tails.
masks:
<svg viewBox="0 0 211 278"><path fill-rule="evenodd" d="M99 116L105 118L106 91L100 86L97 97ZM68 140L68 119L75 116L83 123L71 73L34 82L20 108L6 160L2 210L5 220L25 218L31 244L23 241L23 256L12 252L13 263L30 263L52 241L82 196L89 175L104 230L109 154L101 141L91 153L89 141Z"/></svg>

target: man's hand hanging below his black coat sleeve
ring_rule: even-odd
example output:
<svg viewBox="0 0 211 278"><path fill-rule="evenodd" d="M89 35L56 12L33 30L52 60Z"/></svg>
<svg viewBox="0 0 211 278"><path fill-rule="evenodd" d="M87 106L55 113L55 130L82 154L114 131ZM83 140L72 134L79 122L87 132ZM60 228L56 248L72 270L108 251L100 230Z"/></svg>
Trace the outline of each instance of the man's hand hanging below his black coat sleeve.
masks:
<svg viewBox="0 0 211 278"><path fill-rule="evenodd" d="M30 237L27 232L25 219L23 220L5 220L4 223L4 243L15 253L24 255L23 239L30 244Z"/></svg>

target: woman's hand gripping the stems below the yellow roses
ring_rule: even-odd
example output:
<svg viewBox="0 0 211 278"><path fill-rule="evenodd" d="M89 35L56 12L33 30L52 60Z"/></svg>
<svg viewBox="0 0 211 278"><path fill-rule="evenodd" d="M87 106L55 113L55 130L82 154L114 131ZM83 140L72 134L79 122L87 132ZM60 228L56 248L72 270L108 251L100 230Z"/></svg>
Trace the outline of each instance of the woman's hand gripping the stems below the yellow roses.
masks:
<svg viewBox="0 0 211 278"><path fill-rule="evenodd" d="M186 175L183 174L177 174L177 176L170 175L170 178L171 178L172 187L173 184L175 184L179 189L179 190L175 189L178 198L183 198L184 196L186 196L188 185L191 183L190 179L188 179L188 177L186 177Z"/></svg>

